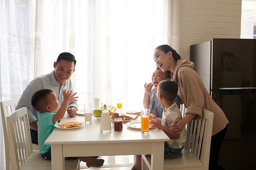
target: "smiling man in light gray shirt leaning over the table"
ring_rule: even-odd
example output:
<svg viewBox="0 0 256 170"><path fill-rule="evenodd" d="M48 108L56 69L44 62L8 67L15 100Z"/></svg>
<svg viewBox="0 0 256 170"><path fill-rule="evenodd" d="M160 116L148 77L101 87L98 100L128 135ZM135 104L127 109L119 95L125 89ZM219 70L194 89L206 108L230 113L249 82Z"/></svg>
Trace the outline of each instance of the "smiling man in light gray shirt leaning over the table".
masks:
<svg viewBox="0 0 256 170"><path fill-rule="evenodd" d="M61 106L63 102L62 92L64 89L73 92L72 83L70 77L74 72L76 60L75 57L70 53L61 53L57 61L54 62L53 67L54 70L46 75L38 76L34 80L32 80L29 85L24 90L16 110L27 107L28 109L28 117L30 124L30 133L31 140L33 143L38 144L37 139L37 110L35 110L31 105L31 98L33 94L41 89L51 89L57 96L59 100L59 104ZM70 117L74 117L76 115L76 111L78 110L78 105L76 101L72 101L68 105L67 113Z"/></svg>

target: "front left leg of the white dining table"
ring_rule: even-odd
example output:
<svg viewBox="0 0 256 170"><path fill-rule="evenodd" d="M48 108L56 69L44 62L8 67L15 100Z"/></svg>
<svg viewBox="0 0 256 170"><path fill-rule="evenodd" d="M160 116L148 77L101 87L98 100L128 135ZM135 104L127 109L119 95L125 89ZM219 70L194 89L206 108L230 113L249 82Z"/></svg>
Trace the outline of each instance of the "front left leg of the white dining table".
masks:
<svg viewBox="0 0 256 170"><path fill-rule="evenodd" d="M65 170L65 157L61 144L51 144L52 170Z"/></svg>

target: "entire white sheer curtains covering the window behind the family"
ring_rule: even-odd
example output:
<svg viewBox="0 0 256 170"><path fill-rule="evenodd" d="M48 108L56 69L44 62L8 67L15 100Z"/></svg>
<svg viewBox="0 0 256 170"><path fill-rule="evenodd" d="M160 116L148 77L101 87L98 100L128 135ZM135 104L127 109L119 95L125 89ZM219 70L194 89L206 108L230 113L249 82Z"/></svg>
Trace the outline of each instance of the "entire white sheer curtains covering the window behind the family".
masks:
<svg viewBox="0 0 256 170"><path fill-rule="evenodd" d="M86 101L94 107L95 94L116 105L117 93L123 109L140 110L143 85L155 68L153 50L177 36L170 32L171 2L0 1L0 100L21 96L34 77L53 70L60 53L70 52L77 60L71 80L80 110ZM109 157L110 166L116 162Z"/></svg>

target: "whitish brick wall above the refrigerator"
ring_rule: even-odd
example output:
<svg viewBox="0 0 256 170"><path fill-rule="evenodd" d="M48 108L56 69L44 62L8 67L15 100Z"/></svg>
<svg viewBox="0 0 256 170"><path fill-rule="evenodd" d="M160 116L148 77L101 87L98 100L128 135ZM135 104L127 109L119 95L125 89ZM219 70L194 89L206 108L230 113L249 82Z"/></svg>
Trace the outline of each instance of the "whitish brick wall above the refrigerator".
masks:
<svg viewBox="0 0 256 170"><path fill-rule="evenodd" d="M178 53L182 59L190 59L190 45L213 38L240 38L241 6L242 0L180 0Z"/></svg>

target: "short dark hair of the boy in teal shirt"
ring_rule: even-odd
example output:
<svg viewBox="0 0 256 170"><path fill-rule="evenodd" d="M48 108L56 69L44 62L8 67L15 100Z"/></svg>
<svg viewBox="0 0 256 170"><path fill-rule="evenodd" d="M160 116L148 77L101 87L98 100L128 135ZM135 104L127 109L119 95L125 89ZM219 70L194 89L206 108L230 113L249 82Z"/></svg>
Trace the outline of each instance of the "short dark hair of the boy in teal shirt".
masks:
<svg viewBox="0 0 256 170"><path fill-rule="evenodd" d="M41 89L35 92L31 98L31 104L37 111L41 113L46 112L46 106L48 105L48 95L53 93L50 89Z"/></svg>

